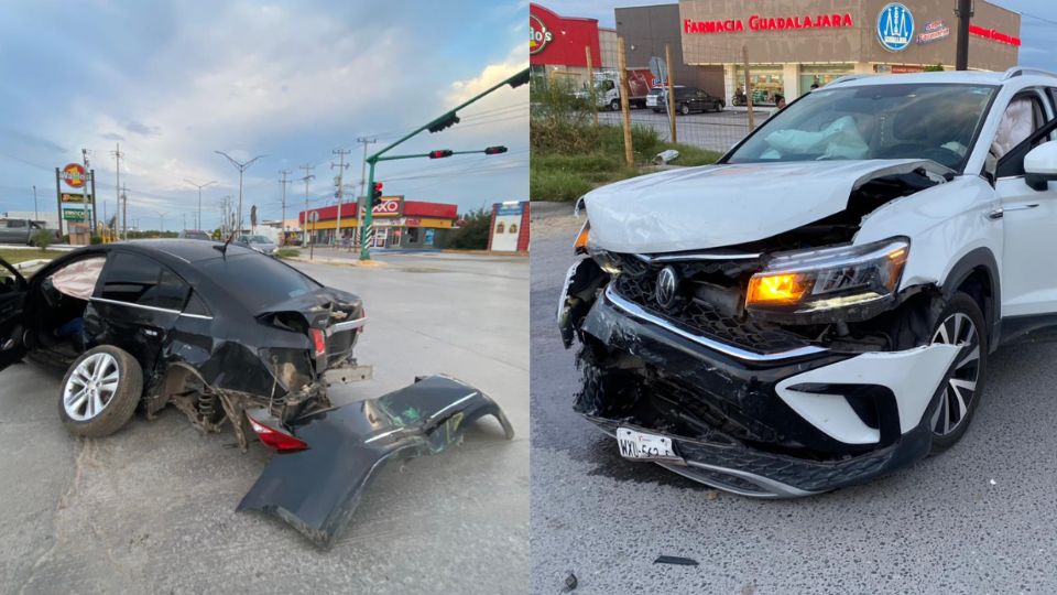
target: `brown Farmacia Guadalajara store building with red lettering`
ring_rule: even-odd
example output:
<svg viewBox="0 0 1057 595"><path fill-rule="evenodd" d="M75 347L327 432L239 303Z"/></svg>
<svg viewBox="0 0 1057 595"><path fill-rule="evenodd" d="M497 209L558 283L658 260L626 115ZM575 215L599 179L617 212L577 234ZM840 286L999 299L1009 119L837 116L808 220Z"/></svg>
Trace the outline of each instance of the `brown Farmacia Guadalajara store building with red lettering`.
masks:
<svg viewBox="0 0 1057 595"><path fill-rule="evenodd" d="M792 100L813 85L850 74L922 72L955 66L954 0L684 0L679 28L684 61L721 66L727 105L744 88L748 51L754 100ZM970 69L1016 65L1020 14L977 0L969 34Z"/></svg>

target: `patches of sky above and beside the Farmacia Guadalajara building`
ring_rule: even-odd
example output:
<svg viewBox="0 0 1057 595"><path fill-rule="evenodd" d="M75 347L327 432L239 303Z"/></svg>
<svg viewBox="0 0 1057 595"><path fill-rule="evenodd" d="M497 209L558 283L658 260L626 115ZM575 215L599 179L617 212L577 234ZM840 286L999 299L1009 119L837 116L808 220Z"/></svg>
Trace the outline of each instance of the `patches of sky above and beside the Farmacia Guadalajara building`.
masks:
<svg viewBox="0 0 1057 595"><path fill-rule="evenodd" d="M950 2L954 10L955 0ZM613 9L647 4L672 4L674 0L543 0L541 4L566 17L598 19L601 26L615 26ZM1025 66L1057 72L1057 53L1053 51L1057 39L1057 1L1055 0L993 0L992 4L1015 10L1021 17L1020 63ZM954 17L951 17L954 19ZM971 57L970 57L971 61Z"/></svg>

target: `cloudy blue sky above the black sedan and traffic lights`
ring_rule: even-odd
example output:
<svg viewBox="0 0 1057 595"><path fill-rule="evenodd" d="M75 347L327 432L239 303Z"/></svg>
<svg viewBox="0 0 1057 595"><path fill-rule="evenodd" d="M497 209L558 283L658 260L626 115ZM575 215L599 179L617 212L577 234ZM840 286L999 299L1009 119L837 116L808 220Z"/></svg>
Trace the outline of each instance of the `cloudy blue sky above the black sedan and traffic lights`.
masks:
<svg viewBox="0 0 1057 595"><path fill-rule="evenodd" d="M90 151L97 192L112 214L115 159L130 219L192 226L197 191L204 227L220 198L277 218L280 170L315 165L313 206L333 202L333 149L351 149L346 184L358 191L362 145L383 147L527 66L527 1L444 2L35 0L0 7L0 212L55 208L54 167ZM505 144L504 155L383 163L386 194L458 203L460 210L528 194L528 93L503 87L460 112L462 122L397 153ZM287 191L287 217L305 185ZM100 206L101 215L102 206ZM244 217L248 219L248 215ZM130 221L131 224L131 221Z"/></svg>

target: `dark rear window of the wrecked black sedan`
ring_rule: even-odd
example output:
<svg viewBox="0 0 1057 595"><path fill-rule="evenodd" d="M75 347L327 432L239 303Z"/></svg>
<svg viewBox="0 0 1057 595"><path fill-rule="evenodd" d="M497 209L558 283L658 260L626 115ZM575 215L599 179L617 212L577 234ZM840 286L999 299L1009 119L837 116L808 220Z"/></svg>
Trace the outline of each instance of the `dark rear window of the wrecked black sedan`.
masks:
<svg viewBox="0 0 1057 595"><path fill-rule="evenodd" d="M200 263L205 274L231 290L250 311L285 302L323 285L264 255L238 255Z"/></svg>

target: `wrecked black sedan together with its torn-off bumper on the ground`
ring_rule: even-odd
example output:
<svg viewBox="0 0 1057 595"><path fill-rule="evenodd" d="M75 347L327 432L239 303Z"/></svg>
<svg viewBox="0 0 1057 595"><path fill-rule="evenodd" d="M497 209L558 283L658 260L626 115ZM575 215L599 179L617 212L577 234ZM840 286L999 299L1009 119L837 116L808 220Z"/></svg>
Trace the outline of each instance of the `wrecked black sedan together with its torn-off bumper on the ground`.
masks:
<svg viewBox="0 0 1057 595"><path fill-rule="evenodd" d="M29 281L0 260L0 369L34 353L66 367L58 416L76 435L172 404L204 432L230 425L283 453L239 509L329 545L382 462L432 454L481 415L480 391L434 376L335 408L328 387L370 376L353 348L361 300L254 250L139 240L64 255ZM456 419L457 418L457 419Z"/></svg>

